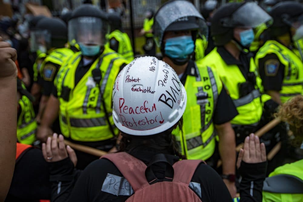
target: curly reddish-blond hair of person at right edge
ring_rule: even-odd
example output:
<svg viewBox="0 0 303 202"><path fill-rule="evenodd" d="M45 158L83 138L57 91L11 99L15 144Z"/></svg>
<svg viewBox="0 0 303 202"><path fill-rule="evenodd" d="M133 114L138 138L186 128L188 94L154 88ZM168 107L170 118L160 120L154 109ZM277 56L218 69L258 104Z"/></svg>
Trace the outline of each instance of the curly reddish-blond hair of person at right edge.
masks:
<svg viewBox="0 0 303 202"><path fill-rule="evenodd" d="M277 116L289 124L295 139L294 146L300 146L303 141L303 96L297 95L284 103Z"/></svg>

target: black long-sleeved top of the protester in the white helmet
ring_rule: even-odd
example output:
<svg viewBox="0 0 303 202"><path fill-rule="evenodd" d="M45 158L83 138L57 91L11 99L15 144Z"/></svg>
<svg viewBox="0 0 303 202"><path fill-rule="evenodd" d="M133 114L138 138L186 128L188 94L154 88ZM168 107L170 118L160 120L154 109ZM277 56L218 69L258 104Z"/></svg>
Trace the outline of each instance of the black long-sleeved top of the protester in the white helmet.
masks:
<svg viewBox="0 0 303 202"><path fill-rule="evenodd" d="M173 164L179 158L173 155L166 154L162 151ZM129 152L132 156L148 164L152 157L158 152L152 148L137 147ZM256 202L262 201L262 187L265 179L267 163L247 164L242 161L240 173L242 181L240 184L241 202ZM163 179L166 170L166 164L159 162L153 167L153 171L158 179ZM117 177L123 177L118 168L107 159L99 159L80 172L75 170L69 158L62 161L50 163L50 173L57 177L52 182L52 201L66 202L66 201L125 201L130 196L115 195L102 191L103 182L107 174L112 174ZM61 182L61 183L60 183ZM203 202L230 202L231 196L225 186L223 180L218 173L206 164L200 164L191 182L197 182L201 188L201 199ZM58 184L60 183L60 189ZM123 188L123 187L122 187ZM171 194L171 193L168 193ZM252 195L251 195L252 194Z"/></svg>

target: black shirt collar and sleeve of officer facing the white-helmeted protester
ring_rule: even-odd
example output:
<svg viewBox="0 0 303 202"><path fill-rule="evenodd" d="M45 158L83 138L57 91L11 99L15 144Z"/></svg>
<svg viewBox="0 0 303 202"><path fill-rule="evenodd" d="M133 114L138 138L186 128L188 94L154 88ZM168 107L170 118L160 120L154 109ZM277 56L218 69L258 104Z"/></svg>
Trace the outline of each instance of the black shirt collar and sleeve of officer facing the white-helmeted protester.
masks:
<svg viewBox="0 0 303 202"><path fill-rule="evenodd" d="M182 75L180 81L183 85L185 85L187 75L197 77L198 74L195 72L195 63L190 60L188 62L188 66ZM238 115L237 108L233 103L231 97L227 94L225 88L222 88L221 93L218 96L217 105L213 114L213 122L214 124L224 124L228 121L231 121L235 116Z"/></svg>

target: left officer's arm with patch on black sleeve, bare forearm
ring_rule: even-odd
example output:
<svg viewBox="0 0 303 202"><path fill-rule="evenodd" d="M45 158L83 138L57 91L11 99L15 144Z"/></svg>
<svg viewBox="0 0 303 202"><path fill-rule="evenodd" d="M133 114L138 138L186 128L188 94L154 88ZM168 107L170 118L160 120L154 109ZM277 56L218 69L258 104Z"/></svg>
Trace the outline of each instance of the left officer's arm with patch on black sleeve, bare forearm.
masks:
<svg viewBox="0 0 303 202"><path fill-rule="evenodd" d="M44 67L41 67L43 69L43 91L42 91L42 97L39 104L39 111L37 114L37 121L41 122L46 103L48 101L48 98L50 94L52 93L52 89L54 87L54 79L57 75L58 69L60 68L60 65L55 64L53 62L46 62L45 64L42 64Z"/></svg>

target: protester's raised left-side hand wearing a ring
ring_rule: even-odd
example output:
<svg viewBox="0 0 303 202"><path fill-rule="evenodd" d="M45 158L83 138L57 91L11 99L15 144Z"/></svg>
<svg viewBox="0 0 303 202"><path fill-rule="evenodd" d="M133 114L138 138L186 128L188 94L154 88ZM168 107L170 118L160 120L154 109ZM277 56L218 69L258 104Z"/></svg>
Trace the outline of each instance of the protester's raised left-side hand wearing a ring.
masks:
<svg viewBox="0 0 303 202"><path fill-rule="evenodd" d="M68 156L73 162L74 166L77 164L77 156L75 151L64 144L63 135L54 133L52 137L48 137L46 143L42 144L42 153L45 161L47 162L57 162L61 161Z"/></svg>

